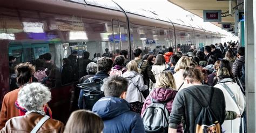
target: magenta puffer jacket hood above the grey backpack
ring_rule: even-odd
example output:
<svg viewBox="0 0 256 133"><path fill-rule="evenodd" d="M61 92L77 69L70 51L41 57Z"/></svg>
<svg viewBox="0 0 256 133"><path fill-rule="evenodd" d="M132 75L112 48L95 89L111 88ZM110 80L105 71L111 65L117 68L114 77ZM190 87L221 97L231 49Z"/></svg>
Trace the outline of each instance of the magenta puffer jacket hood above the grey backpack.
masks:
<svg viewBox="0 0 256 133"><path fill-rule="evenodd" d="M155 88L151 93L151 97L160 102L164 102L174 99L177 93L177 91L169 88Z"/></svg>

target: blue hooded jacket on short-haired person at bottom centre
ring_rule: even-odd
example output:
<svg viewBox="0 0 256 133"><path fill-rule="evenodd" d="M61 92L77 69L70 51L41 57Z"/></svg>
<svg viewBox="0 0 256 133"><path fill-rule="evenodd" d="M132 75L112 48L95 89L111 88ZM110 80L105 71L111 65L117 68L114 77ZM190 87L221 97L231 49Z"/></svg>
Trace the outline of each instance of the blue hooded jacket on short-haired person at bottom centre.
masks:
<svg viewBox="0 0 256 133"><path fill-rule="evenodd" d="M142 118L130 110L130 104L124 99L102 98L93 106L92 112L102 117L103 132L145 132Z"/></svg>

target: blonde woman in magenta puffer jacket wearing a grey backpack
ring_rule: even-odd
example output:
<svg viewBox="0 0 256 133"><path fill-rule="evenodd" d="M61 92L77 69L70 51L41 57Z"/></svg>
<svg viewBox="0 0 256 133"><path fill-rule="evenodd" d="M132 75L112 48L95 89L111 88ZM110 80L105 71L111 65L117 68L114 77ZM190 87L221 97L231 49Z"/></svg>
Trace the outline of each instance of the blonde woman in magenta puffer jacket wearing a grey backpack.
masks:
<svg viewBox="0 0 256 133"><path fill-rule="evenodd" d="M172 73L170 71L160 72L157 77L156 88L154 88L144 102L141 116L143 116L145 109L152 104L151 98L152 100L165 103L165 107L171 113L173 100L177 93ZM181 124L178 125L177 132L183 132Z"/></svg>

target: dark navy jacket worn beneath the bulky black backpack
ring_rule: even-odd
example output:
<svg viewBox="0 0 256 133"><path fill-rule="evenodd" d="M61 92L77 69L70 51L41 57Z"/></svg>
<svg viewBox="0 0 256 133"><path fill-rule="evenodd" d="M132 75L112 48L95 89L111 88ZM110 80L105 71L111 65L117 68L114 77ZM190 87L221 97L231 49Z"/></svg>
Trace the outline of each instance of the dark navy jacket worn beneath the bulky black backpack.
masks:
<svg viewBox="0 0 256 133"><path fill-rule="evenodd" d="M99 71L96 73L96 75L93 77L93 79L97 79L97 78L100 78L100 79L104 79L104 78L107 78L109 77L109 74L107 74L106 72L104 71ZM85 80L84 83L89 83L90 81L87 79ZM80 90L80 94L79 94L79 98L78 98L78 107L79 109L83 109L83 94L84 94L84 91L83 90Z"/></svg>

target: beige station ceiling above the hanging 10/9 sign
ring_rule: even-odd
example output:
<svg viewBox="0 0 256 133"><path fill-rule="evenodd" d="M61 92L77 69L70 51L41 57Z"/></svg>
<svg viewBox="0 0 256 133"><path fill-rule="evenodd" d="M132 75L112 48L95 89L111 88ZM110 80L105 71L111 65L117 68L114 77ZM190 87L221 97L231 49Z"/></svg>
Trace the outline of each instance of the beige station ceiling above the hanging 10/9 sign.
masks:
<svg viewBox="0 0 256 133"><path fill-rule="evenodd" d="M229 11L229 1L228 0L167 0L173 4L176 4L197 16L203 18L203 10L221 10L222 13ZM235 0L232 1L232 9L243 10L244 0ZM239 5L240 4L240 5ZM239 6L237 6L239 5ZM233 10L234 13L234 10ZM221 22L225 23L234 23L234 14L232 16L222 17ZM221 24L213 23L221 27Z"/></svg>

